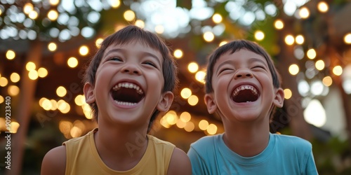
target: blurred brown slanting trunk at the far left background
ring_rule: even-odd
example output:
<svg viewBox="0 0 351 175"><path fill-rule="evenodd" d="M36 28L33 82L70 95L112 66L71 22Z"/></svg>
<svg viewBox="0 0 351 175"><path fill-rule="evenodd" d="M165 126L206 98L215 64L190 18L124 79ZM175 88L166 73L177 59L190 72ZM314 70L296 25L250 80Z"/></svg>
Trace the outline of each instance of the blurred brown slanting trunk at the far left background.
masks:
<svg viewBox="0 0 351 175"><path fill-rule="evenodd" d="M41 41L32 42L25 64L27 64L27 62L34 62L34 64L39 67L42 50L43 43L41 43ZM18 104L16 105L18 106L18 109L16 111L17 116L15 116L15 119L20 124L20 127L18 127L17 133L12 134L11 169L7 170L6 174L8 175L18 175L21 174L22 171L25 141L27 138L29 119L31 116L37 80L29 79L28 71L24 68L22 70L20 83L20 98L18 100Z"/></svg>

